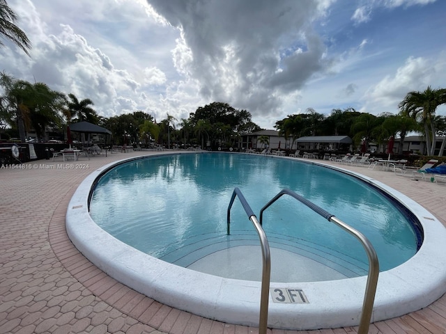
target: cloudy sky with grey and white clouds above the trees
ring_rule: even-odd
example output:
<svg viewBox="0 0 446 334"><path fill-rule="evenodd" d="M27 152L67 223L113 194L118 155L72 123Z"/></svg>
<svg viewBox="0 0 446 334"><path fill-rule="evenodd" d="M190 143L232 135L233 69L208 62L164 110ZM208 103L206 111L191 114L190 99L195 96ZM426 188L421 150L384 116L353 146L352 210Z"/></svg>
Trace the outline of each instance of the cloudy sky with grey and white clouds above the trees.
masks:
<svg viewBox="0 0 446 334"><path fill-rule="evenodd" d="M261 127L313 108L397 113L446 88L444 0L8 0L33 44L0 70L105 117L226 102ZM438 109L446 115L446 109Z"/></svg>

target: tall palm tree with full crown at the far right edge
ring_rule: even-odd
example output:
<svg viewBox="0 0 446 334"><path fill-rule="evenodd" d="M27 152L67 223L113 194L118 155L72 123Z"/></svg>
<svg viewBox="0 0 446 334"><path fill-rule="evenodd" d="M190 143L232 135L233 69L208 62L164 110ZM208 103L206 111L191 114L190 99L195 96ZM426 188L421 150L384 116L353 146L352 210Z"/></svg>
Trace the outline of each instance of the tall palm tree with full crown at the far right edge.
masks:
<svg viewBox="0 0 446 334"><path fill-rule="evenodd" d="M428 86L424 92L410 92L399 103L402 113L422 123L424 136L426 136L426 149L428 155L433 155L436 145L436 128L433 118L440 104L446 103L446 89L432 89Z"/></svg>

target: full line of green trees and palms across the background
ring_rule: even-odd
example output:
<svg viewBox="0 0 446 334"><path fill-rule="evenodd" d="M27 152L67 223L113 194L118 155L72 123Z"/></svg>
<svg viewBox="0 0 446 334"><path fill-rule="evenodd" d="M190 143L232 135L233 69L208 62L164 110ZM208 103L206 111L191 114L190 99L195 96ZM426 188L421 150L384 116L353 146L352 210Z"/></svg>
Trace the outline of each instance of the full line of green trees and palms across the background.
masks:
<svg viewBox="0 0 446 334"><path fill-rule="evenodd" d="M201 148L236 147L244 134L261 130L252 122L247 110L234 109L224 102L199 106L188 118L177 120L167 114L157 122L144 111L134 111L120 116L105 118L93 109L89 98L79 100L49 88L44 83L31 84L8 74L0 74L0 123L17 133L20 141L26 141L26 133L34 129L40 141L47 138L47 130L63 133L71 122L85 120L109 129L112 143L116 145L157 143ZM277 120L275 129L284 136L289 147L301 136L337 136L353 138L355 147L362 143L385 144L392 136L404 140L409 132L422 134L426 140L427 154L435 152L436 138L443 136L440 155L446 144L446 117L437 116L436 109L446 103L446 89L426 88L423 92L410 92L398 105L399 112L370 113L353 108L333 109L330 115L309 108L305 113L289 115ZM399 154L403 147L399 145Z"/></svg>

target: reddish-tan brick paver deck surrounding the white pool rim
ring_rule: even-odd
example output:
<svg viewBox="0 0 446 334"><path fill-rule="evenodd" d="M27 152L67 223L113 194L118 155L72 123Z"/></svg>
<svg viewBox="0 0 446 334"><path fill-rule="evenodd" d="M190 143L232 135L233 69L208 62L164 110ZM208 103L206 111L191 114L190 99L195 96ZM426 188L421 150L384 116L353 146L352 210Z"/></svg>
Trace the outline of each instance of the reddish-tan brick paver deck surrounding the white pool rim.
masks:
<svg viewBox="0 0 446 334"><path fill-rule="evenodd" d="M72 161L51 160L33 161L22 169L0 169L0 334L258 333L257 328L203 319L157 303L107 276L72 246L65 214L77 185L95 168L145 154L153 152L82 159L77 161L81 169L71 169ZM446 224L445 185L364 167L347 168L401 191ZM410 315L371 324L369 333L446 333L446 297Z"/></svg>

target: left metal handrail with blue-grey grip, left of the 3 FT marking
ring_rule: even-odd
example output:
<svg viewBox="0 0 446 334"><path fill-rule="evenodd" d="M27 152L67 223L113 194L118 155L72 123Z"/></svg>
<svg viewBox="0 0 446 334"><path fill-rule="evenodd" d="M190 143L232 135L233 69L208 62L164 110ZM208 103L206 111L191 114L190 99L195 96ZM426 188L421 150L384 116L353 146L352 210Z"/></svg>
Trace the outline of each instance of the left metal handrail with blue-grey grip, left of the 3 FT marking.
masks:
<svg viewBox="0 0 446 334"><path fill-rule="evenodd" d="M231 234L230 225L231 225L231 207L233 205L236 196L240 199L240 202L243 205L243 209L254 225L254 228L259 234L260 244L262 248L262 258L263 258L263 269L262 269L262 286L261 286L261 297L260 297L260 316L259 316L259 334L266 334L267 326L268 326L268 298L269 298L269 289L270 289L270 273L271 273L271 256L270 256L270 246L268 244L268 239L266 239L265 231L261 227L261 224L257 220L256 215L252 211L251 207L245 197L243 196L240 189L237 187L234 189L231 197L231 202L229 202L228 207L228 215L227 215L227 234Z"/></svg>

